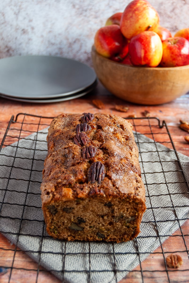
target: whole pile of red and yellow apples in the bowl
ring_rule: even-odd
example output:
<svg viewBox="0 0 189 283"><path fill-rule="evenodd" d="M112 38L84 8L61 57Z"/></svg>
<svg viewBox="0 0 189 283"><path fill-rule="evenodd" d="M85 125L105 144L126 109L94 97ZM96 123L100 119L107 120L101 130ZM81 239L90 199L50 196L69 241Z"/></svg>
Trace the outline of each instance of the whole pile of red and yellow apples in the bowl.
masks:
<svg viewBox="0 0 189 283"><path fill-rule="evenodd" d="M172 37L159 25L157 11L146 0L134 0L123 13L108 18L95 34L94 45L99 54L127 65L189 65L189 28Z"/></svg>

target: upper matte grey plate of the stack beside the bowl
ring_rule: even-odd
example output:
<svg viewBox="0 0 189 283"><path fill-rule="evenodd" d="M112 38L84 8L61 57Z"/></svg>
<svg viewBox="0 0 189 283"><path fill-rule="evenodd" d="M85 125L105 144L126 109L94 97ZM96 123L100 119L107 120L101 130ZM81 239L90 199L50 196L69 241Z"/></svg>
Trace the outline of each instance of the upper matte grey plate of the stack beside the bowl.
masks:
<svg viewBox="0 0 189 283"><path fill-rule="evenodd" d="M0 93L6 96L63 97L90 87L95 80L92 68L68 58L33 55L0 60Z"/></svg>

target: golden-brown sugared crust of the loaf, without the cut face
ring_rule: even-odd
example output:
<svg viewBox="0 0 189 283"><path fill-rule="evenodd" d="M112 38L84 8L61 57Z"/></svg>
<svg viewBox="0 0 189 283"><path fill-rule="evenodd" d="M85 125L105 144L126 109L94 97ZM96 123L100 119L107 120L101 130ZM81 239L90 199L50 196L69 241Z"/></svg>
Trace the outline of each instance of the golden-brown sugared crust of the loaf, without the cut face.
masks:
<svg viewBox="0 0 189 283"><path fill-rule="evenodd" d="M49 205L55 207L61 203L64 206L69 201L98 198L101 202L110 200L114 203L119 199L140 203L140 216L135 217L134 225L137 226L130 239L135 237L145 211L145 188L132 125L121 117L103 113L61 114L51 122L47 145L41 190L48 233L52 234L49 228L52 220L48 222ZM53 217L55 219L57 213ZM82 239L82 235L77 235L84 232L74 233L74 237L65 233L61 238ZM95 240L95 237L89 238ZM109 233L105 240L113 238Z"/></svg>

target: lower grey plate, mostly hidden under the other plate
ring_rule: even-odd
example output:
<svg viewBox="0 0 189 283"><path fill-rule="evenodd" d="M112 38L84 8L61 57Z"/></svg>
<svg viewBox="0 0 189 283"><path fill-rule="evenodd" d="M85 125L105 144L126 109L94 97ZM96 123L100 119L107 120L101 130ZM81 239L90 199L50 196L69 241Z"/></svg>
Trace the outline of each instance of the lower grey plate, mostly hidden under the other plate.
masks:
<svg viewBox="0 0 189 283"><path fill-rule="evenodd" d="M6 96L6 95L2 95L2 94L0 94L0 97L6 98L6 99L10 99L10 100L16 100L16 101L21 101L21 102L30 102L30 103L53 103L53 102L61 102L61 101L71 100L71 99L78 98L78 97L81 97L81 96L83 96L83 95L86 95L87 93L91 92L91 91L95 88L96 84L97 84L97 82L95 81L95 83L93 83L91 87L88 87L88 88L85 89L84 91L79 91L79 92L74 93L74 94L70 94L70 95L63 96L63 97L57 97L57 98L49 98L49 99L29 99L29 98L11 97L11 96Z"/></svg>

